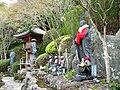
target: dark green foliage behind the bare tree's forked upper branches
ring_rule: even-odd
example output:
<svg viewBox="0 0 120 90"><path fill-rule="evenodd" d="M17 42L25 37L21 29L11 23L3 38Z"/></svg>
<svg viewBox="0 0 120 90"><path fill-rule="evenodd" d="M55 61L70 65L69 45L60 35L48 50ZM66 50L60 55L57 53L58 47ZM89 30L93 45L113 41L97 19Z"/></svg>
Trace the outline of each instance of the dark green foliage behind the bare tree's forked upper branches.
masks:
<svg viewBox="0 0 120 90"><path fill-rule="evenodd" d="M116 34L120 27L119 23L119 1L118 0L91 0L92 8L98 12L94 13L91 9L91 15L95 21L99 31L103 34L103 12L106 13L106 22L107 22L107 34ZM112 4L112 6L111 6ZM109 9L109 7L111 9ZM117 23L116 23L117 22Z"/></svg>

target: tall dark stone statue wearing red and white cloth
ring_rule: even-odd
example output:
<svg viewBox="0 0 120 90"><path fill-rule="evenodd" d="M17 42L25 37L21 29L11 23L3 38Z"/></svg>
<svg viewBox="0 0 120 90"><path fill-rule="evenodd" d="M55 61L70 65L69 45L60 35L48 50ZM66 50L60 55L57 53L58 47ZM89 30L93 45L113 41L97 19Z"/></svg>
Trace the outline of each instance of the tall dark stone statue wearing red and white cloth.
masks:
<svg viewBox="0 0 120 90"><path fill-rule="evenodd" d="M75 42L80 62L82 61L82 58L85 59L86 57L92 60L91 32L89 25L87 25L86 21L84 20L80 21L80 28L77 32Z"/></svg>

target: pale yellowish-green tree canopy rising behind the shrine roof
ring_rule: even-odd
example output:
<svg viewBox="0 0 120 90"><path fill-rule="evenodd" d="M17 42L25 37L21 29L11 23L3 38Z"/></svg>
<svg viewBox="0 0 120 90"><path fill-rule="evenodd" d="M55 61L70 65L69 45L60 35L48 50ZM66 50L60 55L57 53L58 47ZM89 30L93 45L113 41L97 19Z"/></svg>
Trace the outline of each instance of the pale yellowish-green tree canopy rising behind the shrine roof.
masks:
<svg viewBox="0 0 120 90"><path fill-rule="evenodd" d="M1 4L4 7L1 9L0 15L2 23L0 25L0 49L5 53L10 45L14 45L12 43L13 35L30 30L33 25L37 25L45 31L51 28L60 28L61 16L72 8L70 1L72 0L19 0L9 8ZM9 35L6 34L6 31L9 32Z"/></svg>

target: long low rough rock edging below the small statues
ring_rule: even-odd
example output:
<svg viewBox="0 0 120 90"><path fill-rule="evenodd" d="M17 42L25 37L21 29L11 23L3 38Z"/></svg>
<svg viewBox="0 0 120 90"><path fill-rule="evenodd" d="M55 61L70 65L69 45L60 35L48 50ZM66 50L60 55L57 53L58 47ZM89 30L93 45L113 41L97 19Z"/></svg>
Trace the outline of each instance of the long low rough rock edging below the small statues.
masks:
<svg viewBox="0 0 120 90"><path fill-rule="evenodd" d="M55 87L54 90L93 90L97 88L97 90L107 90L107 84L101 85L99 83L94 83L92 80L85 80L81 82L76 81L66 81L61 76L46 76L47 81L49 82L49 86Z"/></svg>

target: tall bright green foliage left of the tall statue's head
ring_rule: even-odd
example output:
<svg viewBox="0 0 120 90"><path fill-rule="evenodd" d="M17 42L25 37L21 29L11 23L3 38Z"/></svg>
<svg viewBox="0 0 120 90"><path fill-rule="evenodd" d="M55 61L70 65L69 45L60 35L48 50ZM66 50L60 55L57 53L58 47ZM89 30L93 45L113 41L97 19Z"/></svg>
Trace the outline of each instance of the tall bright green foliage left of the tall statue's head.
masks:
<svg viewBox="0 0 120 90"><path fill-rule="evenodd" d="M60 29L61 35L69 35L76 34L79 28L80 15L84 13L84 9L82 7L76 6L74 9L65 13L64 15L64 25Z"/></svg>

